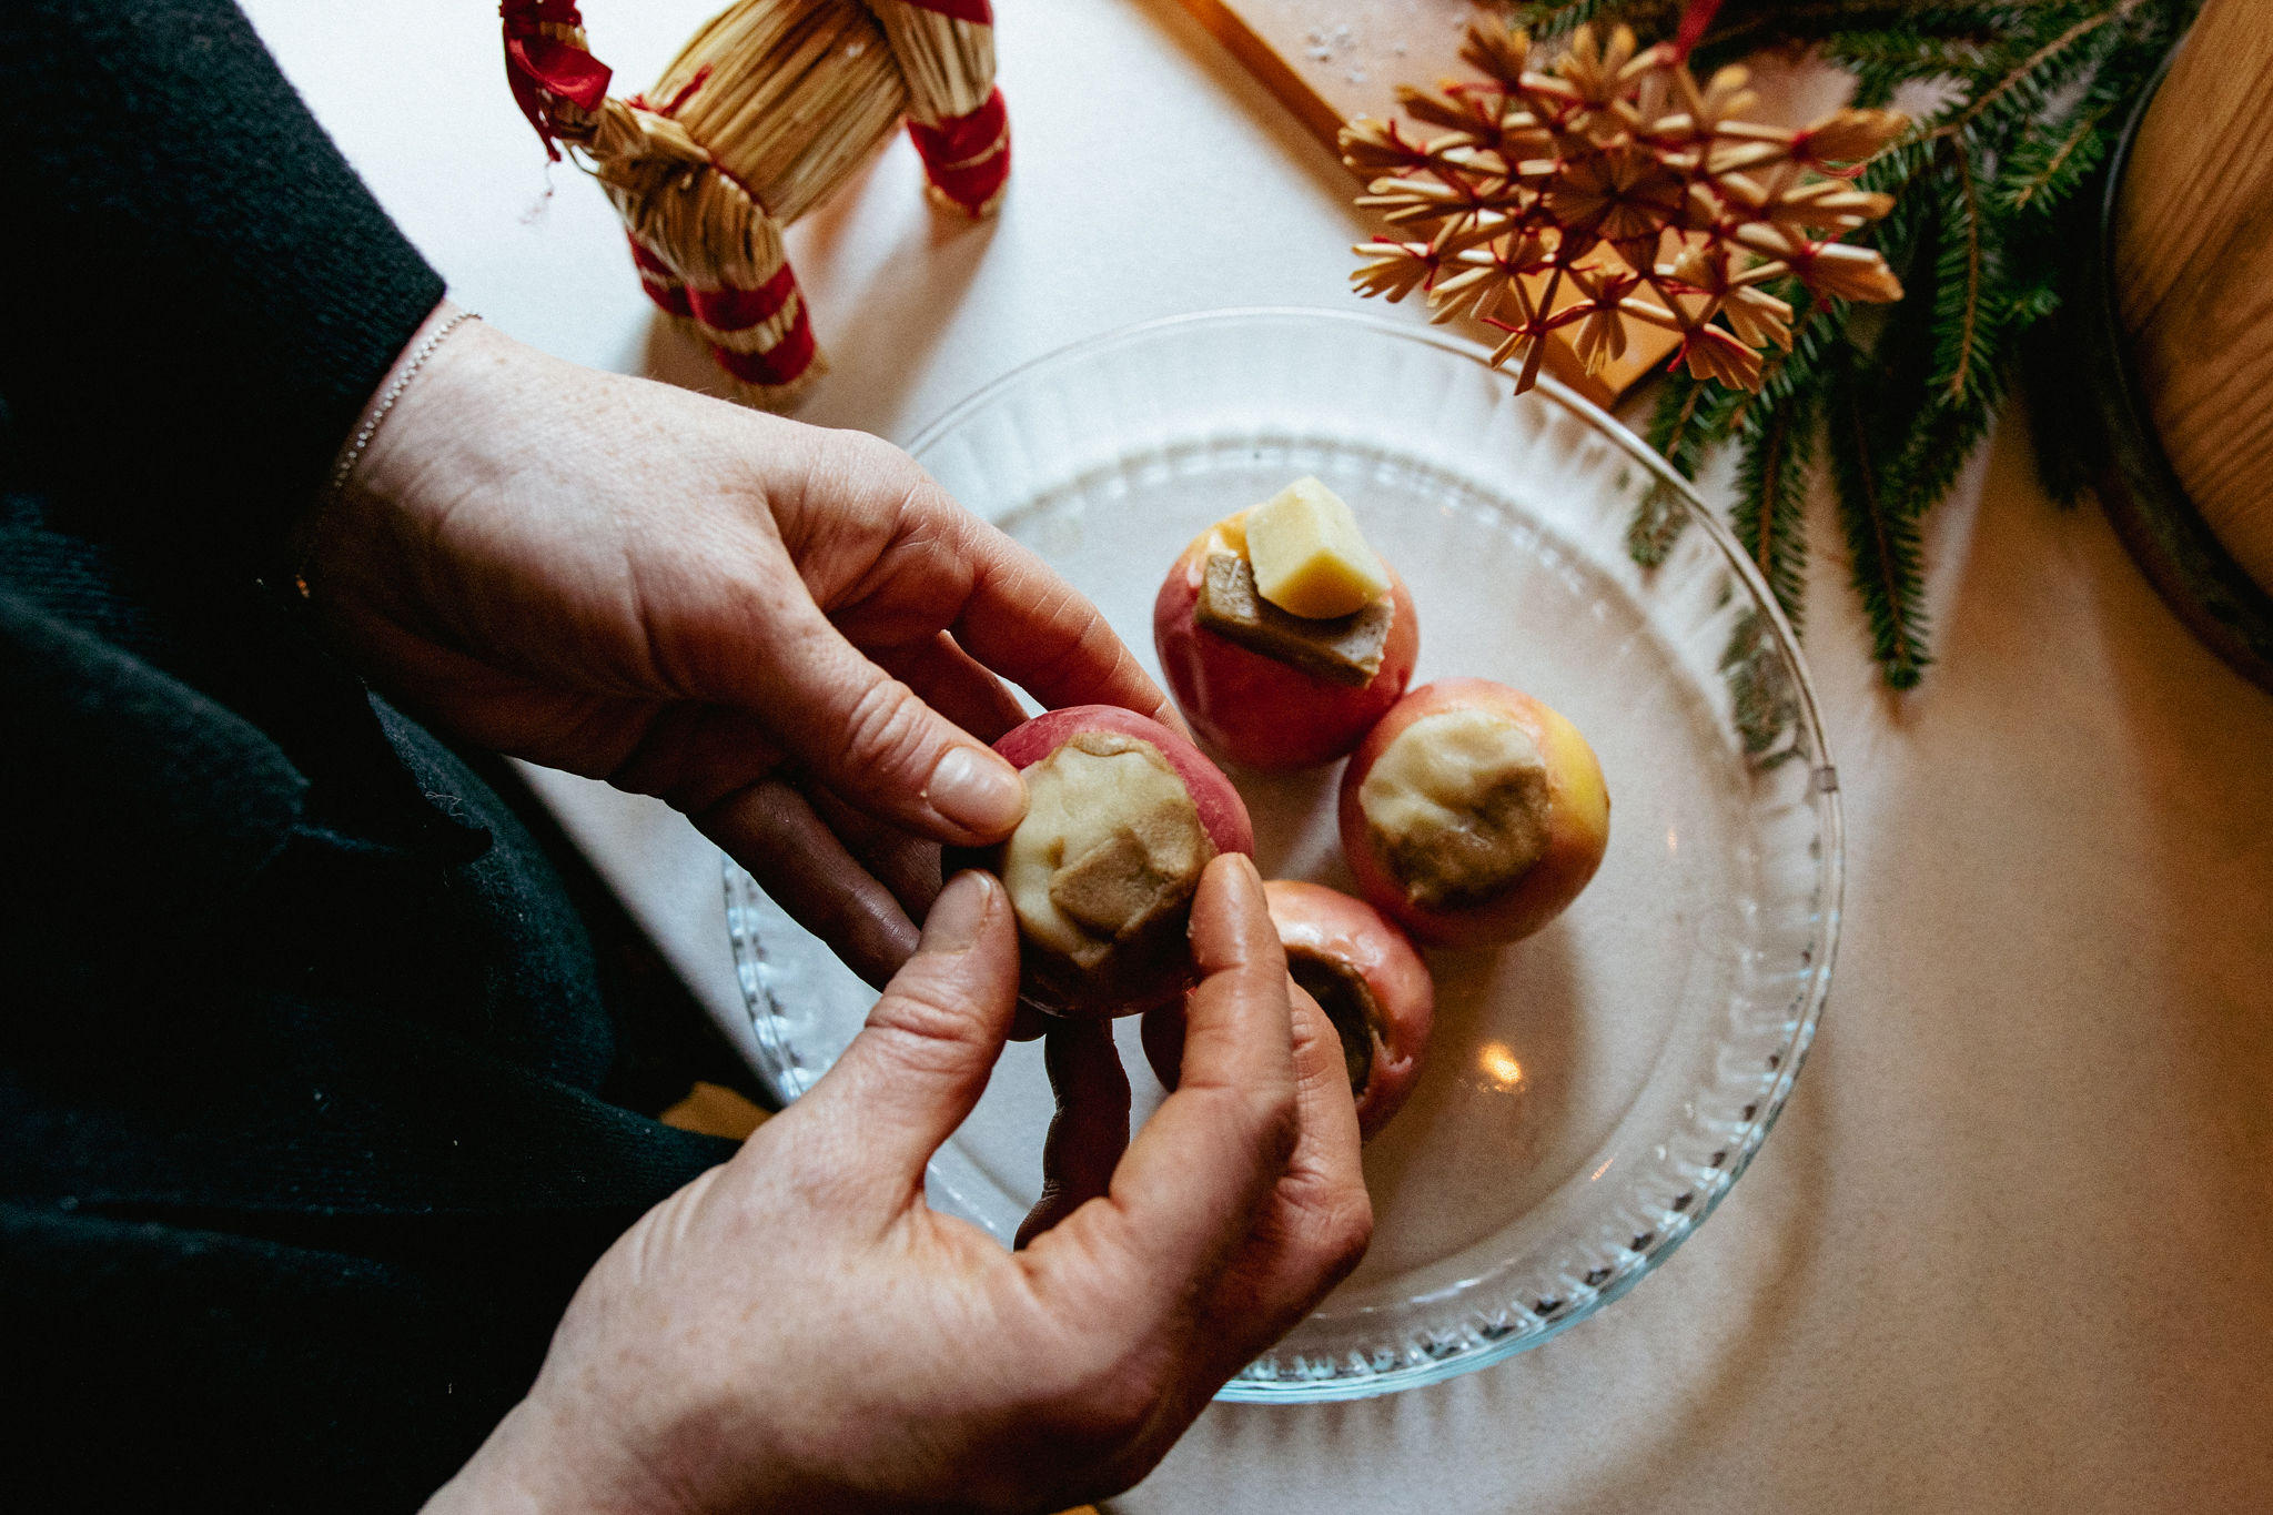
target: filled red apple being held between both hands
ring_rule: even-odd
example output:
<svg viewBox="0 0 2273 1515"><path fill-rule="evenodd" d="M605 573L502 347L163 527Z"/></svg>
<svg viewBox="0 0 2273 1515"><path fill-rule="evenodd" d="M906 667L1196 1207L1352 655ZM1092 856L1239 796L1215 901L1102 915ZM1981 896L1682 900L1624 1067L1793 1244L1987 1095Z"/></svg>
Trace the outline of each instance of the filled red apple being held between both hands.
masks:
<svg viewBox="0 0 2273 1515"><path fill-rule="evenodd" d="M1218 852L1255 852L1239 790L1134 711L1077 704L1014 727L1025 820L955 865L996 872L1018 918L1018 997L1050 1015L1136 1015L1193 981L1184 929Z"/></svg>

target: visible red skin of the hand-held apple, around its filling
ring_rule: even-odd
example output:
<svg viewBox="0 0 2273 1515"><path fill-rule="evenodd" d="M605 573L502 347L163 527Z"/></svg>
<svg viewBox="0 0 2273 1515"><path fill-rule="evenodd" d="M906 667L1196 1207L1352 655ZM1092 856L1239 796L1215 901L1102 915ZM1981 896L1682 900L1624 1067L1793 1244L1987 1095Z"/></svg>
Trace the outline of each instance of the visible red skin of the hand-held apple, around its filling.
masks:
<svg viewBox="0 0 2273 1515"><path fill-rule="evenodd" d="M1255 822L1248 820L1248 806L1239 797L1239 790L1232 788L1232 781L1223 777L1223 770L1205 752L1150 715L1125 711L1118 704L1068 704L1061 711L1043 711L1034 720L1011 727L993 747L1018 770L1025 770L1082 731L1111 731L1150 743L1168 759L1168 768L1184 779L1184 793L1191 795L1191 804L1200 813L1200 827L1207 831L1207 840L1216 845L1216 852L1246 852L1255 856ZM1002 847L955 847L946 856L946 870L952 877L957 868L1000 872ZM1182 934L1177 934L1177 940L1182 940ZM1043 1015L1141 1015L1182 999L1196 977L1198 970L1191 963L1189 947L1171 961L1150 963L1136 977L1096 981L1068 961L1057 959L1057 954L1048 954L1025 938L1018 943L1018 1002Z"/></svg>

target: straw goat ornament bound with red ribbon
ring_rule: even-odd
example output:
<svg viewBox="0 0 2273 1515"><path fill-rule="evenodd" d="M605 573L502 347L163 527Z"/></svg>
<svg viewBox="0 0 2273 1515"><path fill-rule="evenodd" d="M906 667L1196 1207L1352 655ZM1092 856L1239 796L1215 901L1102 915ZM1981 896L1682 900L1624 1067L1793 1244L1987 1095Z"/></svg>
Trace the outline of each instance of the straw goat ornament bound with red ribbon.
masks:
<svg viewBox="0 0 2273 1515"><path fill-rule="evenodd" d="M505 0L505 75L607 189L639 279L736 393L784 409L825 368L782 232L905 118L930 195L984 216L1009 175L986 0L741 0L648 95L607 93L571 0Z"/></svg>

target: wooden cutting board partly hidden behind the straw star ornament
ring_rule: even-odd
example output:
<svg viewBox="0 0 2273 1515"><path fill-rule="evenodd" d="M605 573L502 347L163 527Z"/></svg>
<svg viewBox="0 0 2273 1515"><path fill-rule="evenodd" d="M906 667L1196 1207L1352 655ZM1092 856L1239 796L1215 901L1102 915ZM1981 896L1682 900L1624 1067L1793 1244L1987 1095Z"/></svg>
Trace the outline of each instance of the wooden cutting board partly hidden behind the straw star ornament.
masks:
<svg viewBox="0 0 2273 1515"><path fill-rule="evenodd" d="M1357 116L1398 114L1398 84L1434 86L1475 77L1459 61L1462 39L1477 16L1473 0L1182 0L1264 89L1327 148ZM1357 261L1352 259L1355 268ZM1468 320L1471 336L1496 343L1500 332ZM1616 363L1589 377L1562 336L1548 338L1546 368L1596 404L1614 404L1673 354L1675 338L1632 327Z"/></svg>

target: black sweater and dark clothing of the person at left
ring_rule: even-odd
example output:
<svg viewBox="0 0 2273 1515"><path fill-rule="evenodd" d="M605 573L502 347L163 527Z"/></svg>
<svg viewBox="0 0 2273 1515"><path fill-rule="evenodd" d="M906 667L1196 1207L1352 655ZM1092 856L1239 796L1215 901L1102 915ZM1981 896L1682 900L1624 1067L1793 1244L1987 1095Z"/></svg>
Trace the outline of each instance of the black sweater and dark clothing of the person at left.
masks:
<svg viewBox="0 0 2273 1515"><path fill-rule="evenodd" d="M223 0L0 5L0 1485L411 1508L730 1147L259 584L441 279Z"/></svg>

